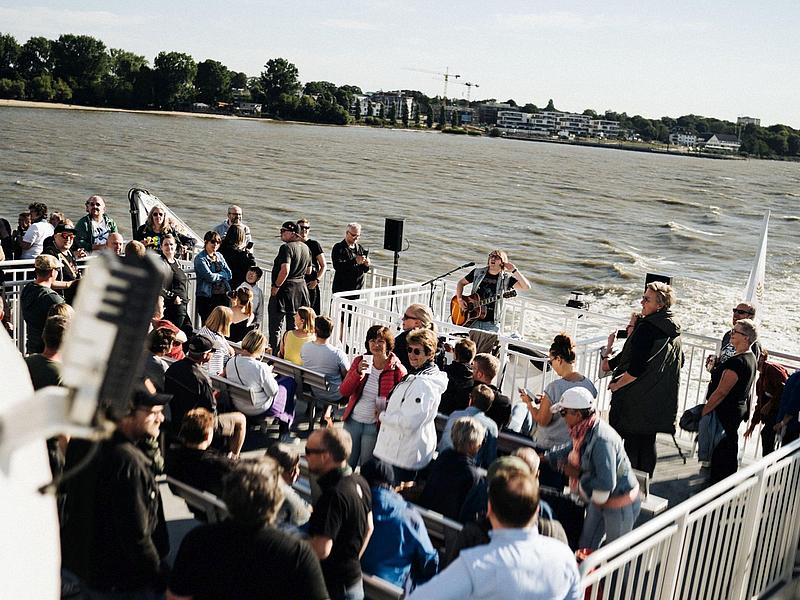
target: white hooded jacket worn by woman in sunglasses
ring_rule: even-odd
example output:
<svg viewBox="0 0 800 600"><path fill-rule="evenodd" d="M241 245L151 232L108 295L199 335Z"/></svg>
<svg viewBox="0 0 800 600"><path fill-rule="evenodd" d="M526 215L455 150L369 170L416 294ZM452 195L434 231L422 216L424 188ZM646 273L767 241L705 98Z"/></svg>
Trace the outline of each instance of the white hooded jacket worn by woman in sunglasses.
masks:
<svg viewBox="0 0 800 600"><path fill-rule="evenodd" d="M447 375L435 365L406 375L378 416L381 428L374 456L403 469L427 466L436 449L434 420L445 389Z"/></svg>

